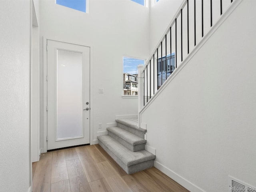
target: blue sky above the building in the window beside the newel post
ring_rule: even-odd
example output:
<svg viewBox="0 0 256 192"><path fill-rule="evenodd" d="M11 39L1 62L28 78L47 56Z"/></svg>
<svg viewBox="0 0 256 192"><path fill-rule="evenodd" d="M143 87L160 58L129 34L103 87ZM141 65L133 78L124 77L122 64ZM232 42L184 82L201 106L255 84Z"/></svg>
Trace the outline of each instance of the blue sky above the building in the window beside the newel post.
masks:
<svg viewBox="0 0 256 192"><path fill-rule="evenodd" d="M137 67L139 64L145 64L145 60L134 59L130 57L123 58L124 73L138 74Z"/></svg>

